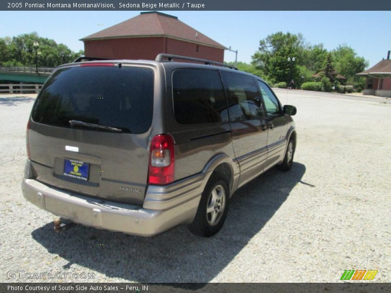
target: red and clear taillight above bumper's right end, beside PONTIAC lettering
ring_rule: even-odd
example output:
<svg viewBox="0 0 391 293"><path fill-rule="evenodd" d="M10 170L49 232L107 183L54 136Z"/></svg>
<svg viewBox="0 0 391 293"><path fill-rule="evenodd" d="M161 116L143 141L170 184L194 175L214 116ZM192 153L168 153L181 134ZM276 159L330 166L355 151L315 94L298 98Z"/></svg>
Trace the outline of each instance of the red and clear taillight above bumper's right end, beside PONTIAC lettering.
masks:
<svg viewBox="0 0 391 293"><path fill-rule="evenodd" d="M150 150L149 184L165 185L174 181L174 139L169 134L152 138Z"/></svg>

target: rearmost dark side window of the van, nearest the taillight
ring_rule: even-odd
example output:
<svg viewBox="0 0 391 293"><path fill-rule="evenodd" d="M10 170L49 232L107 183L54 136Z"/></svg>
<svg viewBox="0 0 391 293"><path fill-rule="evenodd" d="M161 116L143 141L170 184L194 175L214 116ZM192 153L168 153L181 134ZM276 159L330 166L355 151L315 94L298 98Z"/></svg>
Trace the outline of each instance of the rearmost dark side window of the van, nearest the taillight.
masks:
<svg viewBox="0 0 391 293"><path fill-rule="evenodd" d="M175 121L181 125L228 122L227 101L216 70L177 69L173 73Z"/></svg>

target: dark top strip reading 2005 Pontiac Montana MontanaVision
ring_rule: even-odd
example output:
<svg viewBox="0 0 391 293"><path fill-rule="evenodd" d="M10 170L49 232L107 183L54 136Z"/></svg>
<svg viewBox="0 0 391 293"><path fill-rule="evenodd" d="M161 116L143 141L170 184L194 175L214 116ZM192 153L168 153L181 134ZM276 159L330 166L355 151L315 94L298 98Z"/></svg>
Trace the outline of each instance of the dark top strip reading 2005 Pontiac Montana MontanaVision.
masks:
<svg viewBox="0 0 391 293"><path fill-rule="evenodd" d="M391 10L390 0L2 0L0 10ZM235 19L235 17L233 17ZM368 21L368 20L363 20ZM385 28L386 29L386 28Z"/></svg>

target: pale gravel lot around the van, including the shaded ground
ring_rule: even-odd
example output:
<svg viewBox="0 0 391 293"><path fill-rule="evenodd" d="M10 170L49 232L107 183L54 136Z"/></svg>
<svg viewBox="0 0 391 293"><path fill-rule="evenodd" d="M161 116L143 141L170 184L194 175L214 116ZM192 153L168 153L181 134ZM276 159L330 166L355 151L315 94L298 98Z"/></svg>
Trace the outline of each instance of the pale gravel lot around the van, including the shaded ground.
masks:
<svg viewBox="0 0 391 293"><path fill-rule="evenodd" d="M77 225L53 232L53 215L22 197L25 126L34 99L0 96L0 282L338 282L344 270L378 270L391 282L391 105L276 90L296 105L292 170L269 170L239 189L209 239L177 227L140 238ZM8 271L68 273L9 278ZM73 275L75 277L75 275Z"/></svg>

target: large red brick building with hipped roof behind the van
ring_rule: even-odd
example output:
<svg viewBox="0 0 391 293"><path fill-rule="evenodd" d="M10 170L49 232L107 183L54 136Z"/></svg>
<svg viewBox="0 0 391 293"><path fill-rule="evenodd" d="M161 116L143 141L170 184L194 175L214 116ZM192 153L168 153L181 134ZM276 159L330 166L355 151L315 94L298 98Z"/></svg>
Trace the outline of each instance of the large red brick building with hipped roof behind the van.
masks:
<svg viewBox="0 0 391 293"><path fill-rule="evenodd" d="M108 59L154 60L167 53L222 63L227 49L177 17L156 11L141 12L80 41L85 56Z"/></svg>

